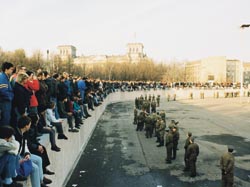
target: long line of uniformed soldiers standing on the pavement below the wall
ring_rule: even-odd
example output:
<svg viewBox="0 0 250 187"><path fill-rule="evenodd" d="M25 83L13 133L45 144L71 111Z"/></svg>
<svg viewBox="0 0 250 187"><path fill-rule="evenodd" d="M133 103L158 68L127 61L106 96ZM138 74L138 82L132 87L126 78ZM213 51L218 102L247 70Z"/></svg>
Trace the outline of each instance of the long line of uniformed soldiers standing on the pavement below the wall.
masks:
<svg viewBox="0 0 250 187"><path fill-rule="evenodd" d="M171 120L166 124L165 111L156 110L160 106L160 96L141 95L135 98L134 121L137 125L136 131L145 131L146 138L156 137L157 147L166 147L166 164L171 164L176 159L178 141L180 139L178 121ZM199 156L199 145L194 142L191 132L187 133L184 144L184 172L189 172L190 177L196 177L196 161ZM228 147L228 152L220 158L220 168L222 172L222 187L233 187L234 185L234 156L232 146Z"/></svg>

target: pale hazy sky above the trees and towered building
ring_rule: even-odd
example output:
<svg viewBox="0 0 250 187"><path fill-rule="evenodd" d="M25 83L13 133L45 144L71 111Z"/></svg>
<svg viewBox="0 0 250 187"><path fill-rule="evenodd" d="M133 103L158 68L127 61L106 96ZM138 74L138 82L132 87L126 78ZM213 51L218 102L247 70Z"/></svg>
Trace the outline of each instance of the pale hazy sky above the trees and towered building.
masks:
<svg viewBox="0 0 250 187"><path fill-rule="evenodd" d="M156 61L226 56L250 62L249 0L0 0L0 47L123 55L140 42Z"/></svg>

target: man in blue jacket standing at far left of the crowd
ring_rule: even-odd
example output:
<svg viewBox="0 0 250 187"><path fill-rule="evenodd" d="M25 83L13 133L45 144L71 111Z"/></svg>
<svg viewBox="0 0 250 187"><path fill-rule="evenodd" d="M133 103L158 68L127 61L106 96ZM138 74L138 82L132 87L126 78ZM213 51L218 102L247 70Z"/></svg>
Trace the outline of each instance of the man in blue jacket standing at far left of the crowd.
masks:
<svg viewBox="0 0 250 187"><path fill-rule="evenodd" d="M0 73L0 126L10 125L11 106L14 97L9 77L14 70L14 66L10 62L2 64L2 72Z"/></svg>

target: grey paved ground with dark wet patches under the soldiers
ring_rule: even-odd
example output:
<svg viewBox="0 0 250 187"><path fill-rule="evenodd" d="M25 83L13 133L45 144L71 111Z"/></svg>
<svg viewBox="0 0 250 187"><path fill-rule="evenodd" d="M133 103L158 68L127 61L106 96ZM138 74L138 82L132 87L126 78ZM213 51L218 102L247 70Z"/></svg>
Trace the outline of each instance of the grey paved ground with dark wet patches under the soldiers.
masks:
<svg viewBox="0 0 250 187"><path fill-rule="evenodd" d="M161 101L159 110L179 121L177 160L165 164L165 147L155 138L136 132L134 102L107 107L67 187L216 187L220 186L219 159L236 149L235 184L250 186L250 103L248 98ZM184 141L191 131L200 146L196 178L183 169Z"/></svg>

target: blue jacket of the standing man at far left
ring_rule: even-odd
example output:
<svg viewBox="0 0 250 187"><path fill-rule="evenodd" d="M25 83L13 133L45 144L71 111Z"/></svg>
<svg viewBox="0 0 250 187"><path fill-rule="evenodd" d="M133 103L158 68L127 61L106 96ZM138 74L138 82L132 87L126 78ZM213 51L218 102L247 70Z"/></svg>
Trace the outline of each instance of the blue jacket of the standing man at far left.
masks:
<svg viewBox="0 0 250 187"><path fill-rule="evenodd" d="M0 73L0 102L12 101L14 93L10 85L9 77L5 73Z"/></svg>

